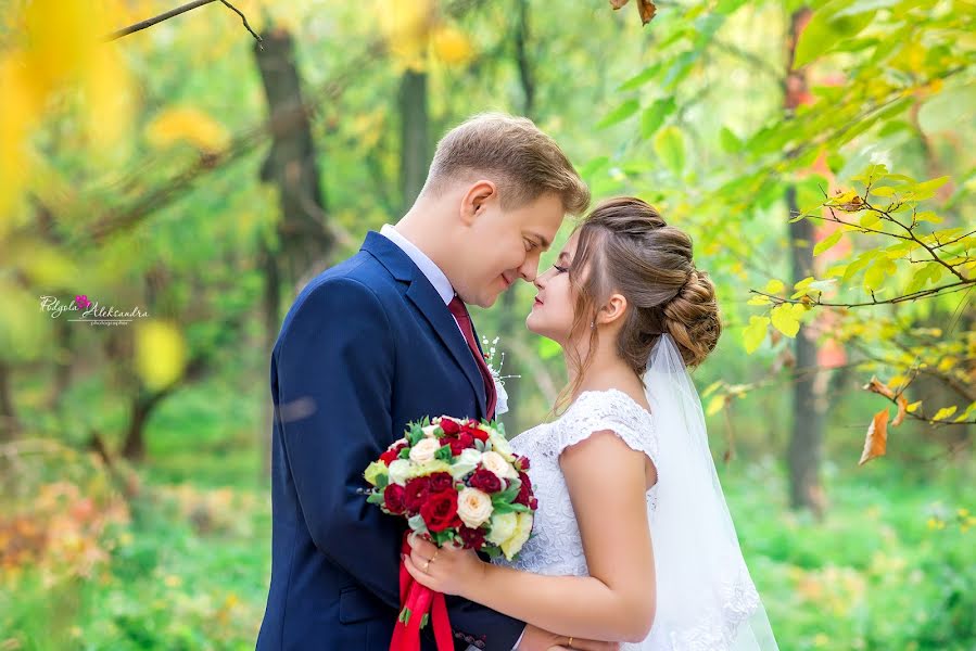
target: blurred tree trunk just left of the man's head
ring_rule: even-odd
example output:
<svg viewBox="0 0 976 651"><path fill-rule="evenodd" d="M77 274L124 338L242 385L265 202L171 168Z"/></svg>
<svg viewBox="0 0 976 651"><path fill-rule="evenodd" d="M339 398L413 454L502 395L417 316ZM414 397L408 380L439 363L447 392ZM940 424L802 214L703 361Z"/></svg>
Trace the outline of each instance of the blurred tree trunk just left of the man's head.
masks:
<svg viewBox="0 0 976 651"><path fill-rule="evenodd" d="M400 187L406 213L427 181L431 152L427 112L427 73L407 71L400 86L401 153Z"/></svg>

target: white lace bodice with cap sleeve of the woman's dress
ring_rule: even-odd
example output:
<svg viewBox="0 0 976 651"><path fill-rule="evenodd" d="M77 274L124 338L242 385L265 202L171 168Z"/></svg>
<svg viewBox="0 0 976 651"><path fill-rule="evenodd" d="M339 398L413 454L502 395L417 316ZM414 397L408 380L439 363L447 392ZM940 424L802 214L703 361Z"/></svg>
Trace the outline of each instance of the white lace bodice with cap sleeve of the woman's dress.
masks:
<svg viewBox="0 0 976 651"><path fill-rule="evenodd" d="M594 432L605 430L611 430L631 448L656 461L658 443L651 414L617 390L584 392L557 420L511 439L512 450L529 457L532 463L529 478L538 499L538 510L532 538L516 560L508 562L500 558L495 562L550 576L588 574L573 505L559 468L559 455ZM656 486L647 493L651 509L656 495Z"/></svg>

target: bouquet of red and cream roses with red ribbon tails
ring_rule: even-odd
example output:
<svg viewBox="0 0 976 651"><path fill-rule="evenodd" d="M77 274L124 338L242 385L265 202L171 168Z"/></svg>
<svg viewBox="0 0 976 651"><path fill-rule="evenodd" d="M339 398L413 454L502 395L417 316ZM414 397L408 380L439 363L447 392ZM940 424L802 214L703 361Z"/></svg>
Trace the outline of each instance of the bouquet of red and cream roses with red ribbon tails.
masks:
<svg viewBox="0 0 976 651"><path fill-rule="evenodd" d="M454 545L511 560L532 533L537 501L500 423L443 416L411 423L364 476L367 501L403 518L410 532L434 545ZM433 621L438 649L454 648L444 596L416 583L401 562L401 613L391 651L420 648L420 628Z"/></svg>

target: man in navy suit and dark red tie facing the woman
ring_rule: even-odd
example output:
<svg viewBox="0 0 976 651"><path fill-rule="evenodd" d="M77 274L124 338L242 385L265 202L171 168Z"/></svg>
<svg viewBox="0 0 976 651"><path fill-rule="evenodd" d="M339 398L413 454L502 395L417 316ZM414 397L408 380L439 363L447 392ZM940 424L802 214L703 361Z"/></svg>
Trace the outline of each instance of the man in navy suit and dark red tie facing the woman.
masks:
<svg viewBox="0 0 976 651"><path fill-rule="evenodd" d="M271 355L271 585L258 651L386 651L404 524L356 489L363 471L424 416L493 418L495 387L465 304L490 307L533 281L566 213L590 193L525 118L480 115L438 144L396 227L295 299ZM447 598L458 649L566 642ZM423 649L434 648L429 627Z"/></svg>

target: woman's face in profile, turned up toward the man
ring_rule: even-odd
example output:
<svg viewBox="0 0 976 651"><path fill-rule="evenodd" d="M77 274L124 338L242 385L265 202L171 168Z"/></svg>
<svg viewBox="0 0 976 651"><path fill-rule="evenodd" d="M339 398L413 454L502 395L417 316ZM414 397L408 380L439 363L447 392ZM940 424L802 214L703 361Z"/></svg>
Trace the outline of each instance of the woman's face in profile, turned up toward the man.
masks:
<svg viewBox="0 0 976 651"><path fill-rule="evenodd" d="M532 311L525 319L525 327L535 334L541 334L566 347L572 331L575 296L569 282L569 270L579 242L579 232L573 233L556 263L535 278L538 293Z"/></svg>

